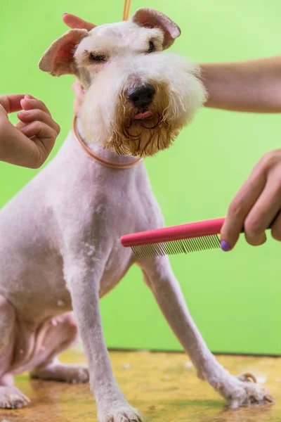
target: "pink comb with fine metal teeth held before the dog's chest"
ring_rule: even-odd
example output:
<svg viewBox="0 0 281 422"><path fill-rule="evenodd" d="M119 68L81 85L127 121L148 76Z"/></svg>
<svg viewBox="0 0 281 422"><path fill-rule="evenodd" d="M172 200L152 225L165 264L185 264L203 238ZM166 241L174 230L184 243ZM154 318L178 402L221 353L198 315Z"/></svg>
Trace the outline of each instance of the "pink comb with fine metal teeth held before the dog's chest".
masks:
<svg viewBox="0 0 281 422"><path fill-rule="evenodd" d="M273 225L280 212L281 210L270 226ZM122 236L120 240L125 248L132 248L137 258L217 249L221 247L218 234L221 233L224 221L225 218L217 218L181 226L164 227L164 229L141 231L141 233ZM243 231L244 229L242 233Z"/></svg>

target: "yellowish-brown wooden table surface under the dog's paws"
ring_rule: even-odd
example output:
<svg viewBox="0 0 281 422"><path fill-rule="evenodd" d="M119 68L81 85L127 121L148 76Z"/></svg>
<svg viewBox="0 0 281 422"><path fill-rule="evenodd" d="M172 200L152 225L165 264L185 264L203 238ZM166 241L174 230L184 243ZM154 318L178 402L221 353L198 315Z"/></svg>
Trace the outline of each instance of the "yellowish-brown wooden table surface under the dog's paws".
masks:
<svg viewBox="0 0 281 422"><path fill-rule="evenodd" d="M266 383L276 404L230 411L207 383L197 379L185 354L111 352L117 381L128 401L146 421L280 422L281 358L220 356L231 373L253 372ZM63 362L85 362L79 348L64 353ZM89 385L37 381L27 374L16 385L32 403L25 409L0 410L0 422L96 422Z"/></svg>

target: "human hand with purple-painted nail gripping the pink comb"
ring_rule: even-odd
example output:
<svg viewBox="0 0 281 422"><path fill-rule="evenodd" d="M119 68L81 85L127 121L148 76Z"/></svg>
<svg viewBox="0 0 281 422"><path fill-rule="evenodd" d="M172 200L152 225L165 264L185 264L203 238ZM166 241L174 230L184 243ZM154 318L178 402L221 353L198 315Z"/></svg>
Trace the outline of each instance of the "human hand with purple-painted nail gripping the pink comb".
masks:
<svg viewBox="0 0 281 422"><path fill-rule="evenodd" d="M250 245L262 245L265 231L280 209L281 148L263 155L230 204L221 229L221 248L233 249L243 227ZM281 241L281 213L271 226L271 235Z"/></svg>

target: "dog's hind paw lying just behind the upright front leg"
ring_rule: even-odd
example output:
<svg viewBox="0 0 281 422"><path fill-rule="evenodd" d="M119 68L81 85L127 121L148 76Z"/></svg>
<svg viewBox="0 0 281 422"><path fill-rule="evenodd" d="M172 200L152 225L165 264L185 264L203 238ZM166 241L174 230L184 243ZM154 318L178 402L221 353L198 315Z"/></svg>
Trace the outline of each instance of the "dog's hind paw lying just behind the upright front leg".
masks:
<svg viewBox="0 0 281 422"><path fill-rule="evenodd" d="M63 381L72 384L89 383L89 369L84 365L51 363L34 369L30 376L41 380Z"/></svg>

